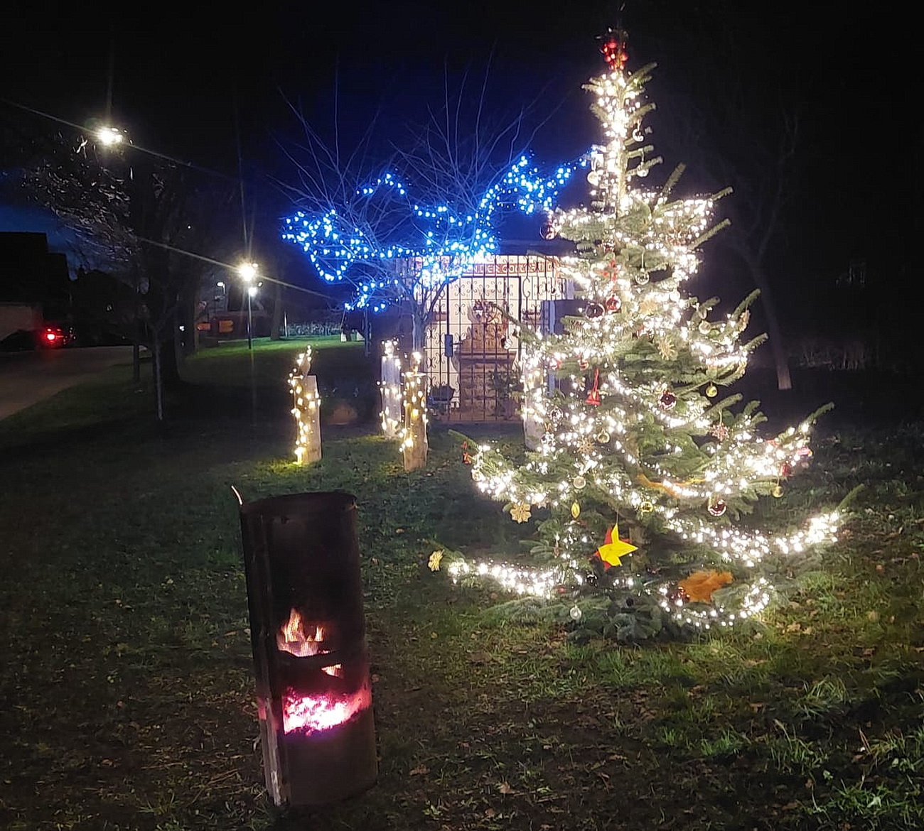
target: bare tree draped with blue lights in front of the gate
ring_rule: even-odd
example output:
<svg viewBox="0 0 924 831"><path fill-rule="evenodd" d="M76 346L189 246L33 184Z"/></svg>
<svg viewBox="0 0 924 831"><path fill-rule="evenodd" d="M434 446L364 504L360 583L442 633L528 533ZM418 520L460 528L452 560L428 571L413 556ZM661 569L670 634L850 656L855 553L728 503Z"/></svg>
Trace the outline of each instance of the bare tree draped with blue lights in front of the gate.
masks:
<svg viewBox="0 0 924 831"><path fill-rule="evenodd" d="M571 173L540 175L527 153L552 112L531 126L529 107L490 117L487 81L486 72L469 95L468 76L457 89L446 80L426 123L384 148L374 146L380 117L345 151L336 113L327 142L292 106L304 139L284 147L296 181L282 184L298 209L286 220L286 238L325 280L353 286L347 307L409 312L415 348L445 286L492 250L501 213L547 210Z"/></svg>

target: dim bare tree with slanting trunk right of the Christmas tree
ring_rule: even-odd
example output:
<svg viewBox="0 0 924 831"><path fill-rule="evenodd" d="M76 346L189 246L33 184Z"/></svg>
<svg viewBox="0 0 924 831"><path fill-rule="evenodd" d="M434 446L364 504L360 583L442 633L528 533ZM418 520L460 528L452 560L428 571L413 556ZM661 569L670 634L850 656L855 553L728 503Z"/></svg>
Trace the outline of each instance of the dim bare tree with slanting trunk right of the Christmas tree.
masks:
<svg viewBox="0 0 924 831"><path fill-rule="evenodd" d="M663 146L689 164L703 189L732 187L722 203L732 224L716 245L760 289L777 386L789 390L777 289L792 267L785 243L802 163L796 79L784 60L755 51L758 34L748 26L757 19L731 0L670 6L671 15L660 17L667 7L655 2L648 12L675 29L642 47L668 58L660 61L668 65L658 110Z"/></svg>

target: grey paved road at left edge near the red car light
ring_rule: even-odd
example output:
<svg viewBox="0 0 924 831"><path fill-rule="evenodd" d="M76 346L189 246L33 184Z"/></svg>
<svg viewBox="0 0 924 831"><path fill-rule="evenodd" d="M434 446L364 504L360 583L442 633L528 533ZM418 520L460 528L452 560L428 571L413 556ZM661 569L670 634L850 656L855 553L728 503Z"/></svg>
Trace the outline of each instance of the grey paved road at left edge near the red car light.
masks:
<svg viewBox="0 0 924 831"><path fill-rule="evenodd" d="M106 367L130 363L130 346L0 352L0 419L89 380Z"/></svg>

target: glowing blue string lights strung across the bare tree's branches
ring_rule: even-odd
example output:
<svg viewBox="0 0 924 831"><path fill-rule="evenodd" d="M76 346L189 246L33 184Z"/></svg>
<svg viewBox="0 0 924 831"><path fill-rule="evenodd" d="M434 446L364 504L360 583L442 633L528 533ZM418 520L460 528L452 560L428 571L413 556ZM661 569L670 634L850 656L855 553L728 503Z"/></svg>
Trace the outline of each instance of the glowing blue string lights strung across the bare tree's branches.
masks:
<svg viewBox="0 0 924 831"><path fill-rule="evenodd" d="M356 284L356 294L346 303L348 310L382 311L394 299L389 290L398 284L387 260L418 260L416 279L428 289L450 283L476 259L496 249L494 229L501 212L551 211L558 191L586 163L586 157L581 157L542 175L529 156L521 155L471 212L449 205L419 205L395 175L385 173L360 187L355 195L359 201L344 211L354 219L363 217L366 229L347 222L334 208L322 213L297 211L286 217L283 239L302 247L328 283L348 279Z"/></svg>

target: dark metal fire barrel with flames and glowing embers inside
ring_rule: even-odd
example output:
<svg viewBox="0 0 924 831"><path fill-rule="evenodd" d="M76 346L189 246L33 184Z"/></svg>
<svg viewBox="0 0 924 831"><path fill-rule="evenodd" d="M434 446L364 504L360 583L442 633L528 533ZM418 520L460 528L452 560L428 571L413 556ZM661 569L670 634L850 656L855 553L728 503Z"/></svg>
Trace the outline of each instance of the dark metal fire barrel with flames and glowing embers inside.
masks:
<svg viewBox="0 0 924 831"><path fill-rule="evenodd" d="M378 775L356 498L244 502L241 534L266 788L321 805Z"/></svg>

